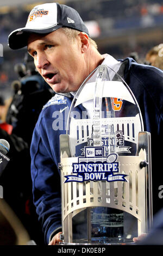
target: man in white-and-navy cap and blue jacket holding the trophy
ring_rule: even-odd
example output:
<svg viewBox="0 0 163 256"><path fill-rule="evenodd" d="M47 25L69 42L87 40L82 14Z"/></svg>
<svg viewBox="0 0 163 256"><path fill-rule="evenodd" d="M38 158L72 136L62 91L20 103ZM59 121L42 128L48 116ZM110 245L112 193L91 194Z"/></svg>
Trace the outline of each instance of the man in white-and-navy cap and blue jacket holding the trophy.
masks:
<svg viewBox="0 0 163 256"><path fill-rule="evenodd" d="M117 62L108 54L101 55L76 10L58 3L35 7L29 14L26 27L9 35L9 46L12 49L27 46L41 76L55 93L61 93L43 107L31 145L36 212L42 222L46 243L54 245L61 232L60 172L57 169L60 162L59 135L65 133L64 129L54 127L55 111L64 112L71 106L74 92L100 64L115 71L122 67L122 76L140 105L145 131L152 133L155 149L162 127L163 73L151 66L139 65L130 58ZM64 125L65 122L64 119ZM156 198L158 184L154 190Z"/></svg>

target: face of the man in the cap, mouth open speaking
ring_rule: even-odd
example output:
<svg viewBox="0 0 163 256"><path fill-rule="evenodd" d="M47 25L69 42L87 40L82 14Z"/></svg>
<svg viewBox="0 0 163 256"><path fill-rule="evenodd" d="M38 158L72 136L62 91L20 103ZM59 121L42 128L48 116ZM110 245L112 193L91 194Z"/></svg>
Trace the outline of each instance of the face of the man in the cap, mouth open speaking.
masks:
<svg viewBox="0 0 163 256"><path fill-rule="evenodd" d="M72 43L61 29L30 34L28 52L37 71L57 93L75 92L89 75L79 35Z"/></svg>

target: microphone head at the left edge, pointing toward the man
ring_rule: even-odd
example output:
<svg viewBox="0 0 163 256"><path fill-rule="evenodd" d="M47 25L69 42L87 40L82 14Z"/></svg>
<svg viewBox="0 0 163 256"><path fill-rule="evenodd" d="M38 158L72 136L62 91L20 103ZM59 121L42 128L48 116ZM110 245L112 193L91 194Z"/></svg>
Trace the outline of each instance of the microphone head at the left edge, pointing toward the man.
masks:
<svg viewBox="0 0 163 256"><path fill-rule="evenodd" d="M0 176L10 161L9 157L7 157L7 153L9 152L10 145L8 141L5 139L0 139Z"/></svg>

